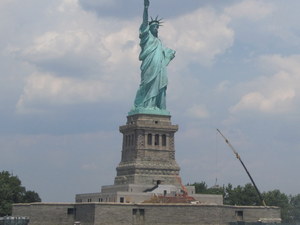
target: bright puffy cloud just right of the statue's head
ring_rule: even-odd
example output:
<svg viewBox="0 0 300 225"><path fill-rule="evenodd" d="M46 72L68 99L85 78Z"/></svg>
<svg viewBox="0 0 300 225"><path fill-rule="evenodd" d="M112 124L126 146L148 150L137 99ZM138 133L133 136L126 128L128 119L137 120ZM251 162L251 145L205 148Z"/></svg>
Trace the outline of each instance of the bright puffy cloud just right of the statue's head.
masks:
<svg viewBox="0 0 300 225"><path fill-rule="evenodd" d="M218 15L211 8L201 8L166 22L162 36L178 51L178 61L211 65L216 56L233 44L234 31L228 27L229 22L229 17Z"/></svg>

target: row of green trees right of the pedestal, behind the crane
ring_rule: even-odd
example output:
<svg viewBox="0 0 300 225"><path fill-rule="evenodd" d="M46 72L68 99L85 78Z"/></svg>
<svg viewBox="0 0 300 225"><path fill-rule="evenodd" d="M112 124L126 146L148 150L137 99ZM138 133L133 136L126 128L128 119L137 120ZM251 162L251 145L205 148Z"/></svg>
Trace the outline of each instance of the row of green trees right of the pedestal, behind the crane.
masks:
<svg viewBox="0 0 300 225"><path fill-rule="evenodd" d="M262 202L251 183L244 186L238 185L233 187L232 184L227 186L213 186L208 188L205 182L189 184L195 186L197 194L220 194L223 195L225 205L251 205L260 206ZM278 206L281 209L281 218L283 223L299 224L300 223L300 194L286 195L280 190L275 189L261 193L267 206Z"/></svg>

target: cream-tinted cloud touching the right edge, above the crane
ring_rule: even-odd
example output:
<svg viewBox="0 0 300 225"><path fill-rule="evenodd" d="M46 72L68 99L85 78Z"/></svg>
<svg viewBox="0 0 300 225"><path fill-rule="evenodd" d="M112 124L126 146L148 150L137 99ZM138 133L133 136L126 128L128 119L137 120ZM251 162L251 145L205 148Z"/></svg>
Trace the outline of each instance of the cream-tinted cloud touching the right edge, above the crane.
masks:
<svg viewBox="0 0 300 225"><path fill-rule="evenodd" d="M248 93L230 108L232 113L257 111L261 113L287 113L295 109L300 97L300 56L269 55L260 58L264 67L275 73L259 77L248 84Z"/></svg>

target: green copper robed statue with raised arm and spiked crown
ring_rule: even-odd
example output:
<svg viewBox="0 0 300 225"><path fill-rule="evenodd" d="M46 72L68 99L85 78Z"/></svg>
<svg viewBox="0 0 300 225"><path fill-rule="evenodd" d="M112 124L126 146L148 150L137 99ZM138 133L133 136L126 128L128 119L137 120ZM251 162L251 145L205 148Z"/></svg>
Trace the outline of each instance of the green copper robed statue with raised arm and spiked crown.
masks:
<svg viewBox="0 0 300 225"><path fill-rule="evenodd" d="M161 20L148 21L149 0L144 0L143 23L140 26L141 84L136 93L134 108L129 115L146 113L169 115L166 111L168 84L167 66L175 57L175 51L165 48L158 38Z"/></svg>

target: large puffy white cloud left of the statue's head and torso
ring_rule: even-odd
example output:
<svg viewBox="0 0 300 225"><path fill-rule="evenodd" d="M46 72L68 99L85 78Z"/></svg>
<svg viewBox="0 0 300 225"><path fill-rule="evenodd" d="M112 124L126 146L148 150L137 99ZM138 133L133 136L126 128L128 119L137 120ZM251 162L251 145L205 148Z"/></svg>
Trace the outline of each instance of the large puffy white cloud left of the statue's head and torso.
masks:
<svg viewBox="0 0 300 225"><path fill-rule="evenodd" d="M30 46L12 48L17 57L61 76L103 76L111 68L136 65L134 22L99 19L84 11L77 0L63 0L50 16L61 20L33 36Z"/></svg>

